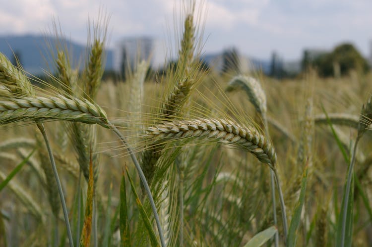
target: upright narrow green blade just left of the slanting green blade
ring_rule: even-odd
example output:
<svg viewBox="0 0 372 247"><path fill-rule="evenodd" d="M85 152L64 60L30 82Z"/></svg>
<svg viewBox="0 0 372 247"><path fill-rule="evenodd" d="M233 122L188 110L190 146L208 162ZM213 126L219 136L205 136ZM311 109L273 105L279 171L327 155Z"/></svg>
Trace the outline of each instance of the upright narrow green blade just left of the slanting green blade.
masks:
<svg viewBox="0 0 372 247"><path fill-rule="evenodd" d="M121 246L130 246L130 230L128 211L126 206L126 188L124 171L122 175L122 182L120 183L120 216L119 216L120 238Z"/></svg>

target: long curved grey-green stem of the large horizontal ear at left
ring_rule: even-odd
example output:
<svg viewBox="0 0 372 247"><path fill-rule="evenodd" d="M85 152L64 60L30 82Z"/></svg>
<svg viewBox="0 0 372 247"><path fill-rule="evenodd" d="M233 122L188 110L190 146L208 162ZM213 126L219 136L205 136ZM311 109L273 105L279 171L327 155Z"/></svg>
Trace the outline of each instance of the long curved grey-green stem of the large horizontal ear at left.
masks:
<svg viewBox="0 0 372 247"><path fill-rule="evenodd" d="M111 123L108 123L108 126L119 137L119 139L122 141L122 143L124 144L124 146L126 147L126 149L129 152L129 155L130 155L130 157L131 157L131 159L134 163L134 166L137 169L139 178L141 179L143 187L145 188L147 197L149 198L150 205L151 205L151 208L152 208L152 212L154 213L154 217L155 217L155 221L156 221L156 226L157 226L158 232L159 232L160 243L161 243L162 247L165 247L166 245L165 245L165 241L164 241L164 235L163 235L163 231L162 231L162 228L161 228L161 225L160 225L159 215L158 215L158 212L156 211L154 198L152 198L150 187L148 186L147 180L145 178L145 175L143 174L141 166L139 165L138 160L135 157L133 151L126 144L125 138L122 135L122 133L115 127L115 125L113 125Z"/></svg>

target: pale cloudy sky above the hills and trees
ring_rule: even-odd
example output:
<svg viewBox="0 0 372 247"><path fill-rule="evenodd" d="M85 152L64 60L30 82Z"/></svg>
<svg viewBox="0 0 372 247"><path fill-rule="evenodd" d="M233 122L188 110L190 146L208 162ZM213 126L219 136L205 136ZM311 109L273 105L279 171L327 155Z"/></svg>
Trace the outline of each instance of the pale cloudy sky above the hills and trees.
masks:
<svg viewBox="0 0 372 247"><path fill-rule="evenodd" d="M276 50L292 60L299 59L304 48L331 49L348 41L365 56L370 54L371 0L203 2L205 52L236 47L244 54L269 59ZM181 5L181 0L4 0L0 35L40 34L56 18L71 40L85 43L88 17L94 20L104 9L110 15L111 47L125 36L168 41L175 37L173 23L180 18L174 18L174 13L176 9L180 16Z"/></svg>

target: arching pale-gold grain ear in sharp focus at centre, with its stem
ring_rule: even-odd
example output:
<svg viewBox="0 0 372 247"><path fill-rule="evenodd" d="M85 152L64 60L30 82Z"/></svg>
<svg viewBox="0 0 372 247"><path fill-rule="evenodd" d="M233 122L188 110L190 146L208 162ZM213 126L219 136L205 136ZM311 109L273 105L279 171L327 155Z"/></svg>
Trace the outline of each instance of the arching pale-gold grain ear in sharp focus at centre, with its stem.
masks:
<svg viewBox="0 0 372 247"><path fill-rule="evenodd" d="M193 119L164 122L147 128L145 138L152 141L154 146L164 145L170 140L185 138L203 138L205 140L222 141L235 144L252 153L262 163L267 163L274 172L278 186L279 198L282 208L284 240L287 236L287 216L283 194L276 172L276 153L271 143L252 127L243 127L231 120L225 119Z"/></svg>

